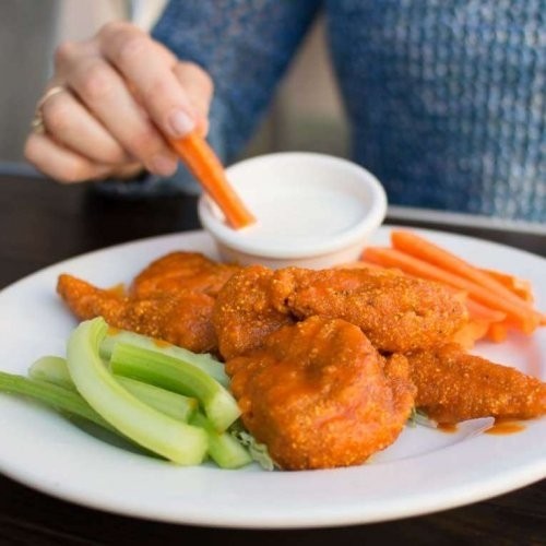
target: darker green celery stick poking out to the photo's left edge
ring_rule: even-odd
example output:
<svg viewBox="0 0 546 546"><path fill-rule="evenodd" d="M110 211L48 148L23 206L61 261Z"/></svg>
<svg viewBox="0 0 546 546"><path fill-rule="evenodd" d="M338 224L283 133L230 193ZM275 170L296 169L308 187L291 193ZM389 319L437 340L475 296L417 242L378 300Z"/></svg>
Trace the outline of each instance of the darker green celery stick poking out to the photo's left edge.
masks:
<svg viewBox="0 0 546 546"><path fill-rule="evenodd" d="M64 389L63 387L46 381L0 371L0 392L22 394L32 397L57 411L83 417L108 430L116 431L108 422L103 419L103 417L100 417L100 415L98 415L93 407L73 390Z"/></svg>

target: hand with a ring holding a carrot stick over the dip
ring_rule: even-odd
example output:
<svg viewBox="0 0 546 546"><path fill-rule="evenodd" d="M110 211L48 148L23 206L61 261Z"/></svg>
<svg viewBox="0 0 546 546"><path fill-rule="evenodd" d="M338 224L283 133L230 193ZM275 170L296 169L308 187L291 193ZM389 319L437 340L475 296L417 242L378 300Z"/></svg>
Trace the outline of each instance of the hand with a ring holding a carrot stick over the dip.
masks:
<svg viewBox="0 0 546 546"><path fill-rule="evenodd" d="M177 157L166 139L209 129L209 74L124 22L62 44L46 90L25 157L61 182L169 176Z"/></svg>

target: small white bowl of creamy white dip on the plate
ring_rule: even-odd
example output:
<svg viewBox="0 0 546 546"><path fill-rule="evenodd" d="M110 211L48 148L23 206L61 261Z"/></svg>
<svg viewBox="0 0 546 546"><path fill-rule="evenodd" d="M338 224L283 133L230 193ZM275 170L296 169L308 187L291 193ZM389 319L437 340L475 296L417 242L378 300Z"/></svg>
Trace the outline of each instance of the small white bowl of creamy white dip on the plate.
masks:
<svg viewBox="0 0 546 546"><path fill-rule="evenodd" d="M233 165L226 174L258 222L230 228L205 194L198 212L221 257L242 265L322 269L357 260L387 213L377 178L339 157L269 154Z"/></svg>

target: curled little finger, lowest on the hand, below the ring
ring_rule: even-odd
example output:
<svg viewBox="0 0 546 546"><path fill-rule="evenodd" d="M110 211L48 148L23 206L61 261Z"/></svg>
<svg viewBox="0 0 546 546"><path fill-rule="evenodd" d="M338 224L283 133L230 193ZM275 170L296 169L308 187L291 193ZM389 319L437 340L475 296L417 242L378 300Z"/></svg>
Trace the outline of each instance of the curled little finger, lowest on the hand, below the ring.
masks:
<svg viewBox="0 0 546 546"><path fill-rule="evenodd" d="M104 178L111 170L111 166L91 162L46 134L32 133L28 136L25 157L38 170L63 183Z"/></svg>

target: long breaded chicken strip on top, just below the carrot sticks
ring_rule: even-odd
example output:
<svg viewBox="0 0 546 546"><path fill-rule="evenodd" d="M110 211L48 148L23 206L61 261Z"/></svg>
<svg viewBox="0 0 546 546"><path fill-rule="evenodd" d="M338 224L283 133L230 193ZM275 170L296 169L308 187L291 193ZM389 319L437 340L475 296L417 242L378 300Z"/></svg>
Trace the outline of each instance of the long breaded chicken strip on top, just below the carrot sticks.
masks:
<svg viewBox="0 0 546 546"><path fill-rule="evenodd" d="M443 286L371 269L276 272L287 308L298 319L344 319L376 348L406 353L443 344L468 320L465 306Z"/></svg>

